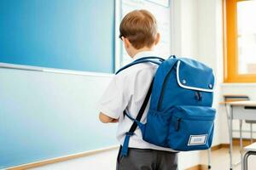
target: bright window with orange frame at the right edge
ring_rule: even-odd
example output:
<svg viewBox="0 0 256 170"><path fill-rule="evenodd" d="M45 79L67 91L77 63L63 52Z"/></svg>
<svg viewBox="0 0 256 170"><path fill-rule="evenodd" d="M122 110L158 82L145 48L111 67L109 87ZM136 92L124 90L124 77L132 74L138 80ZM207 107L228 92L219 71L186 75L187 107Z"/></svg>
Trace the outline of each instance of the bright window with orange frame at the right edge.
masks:
<svg viewBox="0 0 256 170"><path fill-rule="evenodd" d="M256 82L256 0L226 0L224 82Z"/></svg>

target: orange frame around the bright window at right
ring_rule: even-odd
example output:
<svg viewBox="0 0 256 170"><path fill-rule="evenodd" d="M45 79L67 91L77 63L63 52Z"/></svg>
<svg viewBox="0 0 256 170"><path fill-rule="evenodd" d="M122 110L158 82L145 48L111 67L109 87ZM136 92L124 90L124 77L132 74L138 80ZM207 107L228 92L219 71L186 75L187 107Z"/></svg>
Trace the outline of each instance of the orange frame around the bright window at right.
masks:
<svg viewBox="0 0 256 170"><path fill-rule="evenodd" d="M248 0L224 0L224 82L256 82L256 73L238 71L237 3L242 1Z"/></svg>

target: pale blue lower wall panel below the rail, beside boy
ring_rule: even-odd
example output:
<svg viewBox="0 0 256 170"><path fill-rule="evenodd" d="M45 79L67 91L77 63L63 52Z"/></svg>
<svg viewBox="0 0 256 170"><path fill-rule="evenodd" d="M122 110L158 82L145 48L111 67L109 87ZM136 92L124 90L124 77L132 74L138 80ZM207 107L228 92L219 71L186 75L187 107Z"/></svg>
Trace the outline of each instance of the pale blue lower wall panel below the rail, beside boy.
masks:
<svg viewBox="0 0 256 170"><path fill-rule="evenodd" d="M110 79L0 69L0 169L118 144L96 107Z"/></svg>

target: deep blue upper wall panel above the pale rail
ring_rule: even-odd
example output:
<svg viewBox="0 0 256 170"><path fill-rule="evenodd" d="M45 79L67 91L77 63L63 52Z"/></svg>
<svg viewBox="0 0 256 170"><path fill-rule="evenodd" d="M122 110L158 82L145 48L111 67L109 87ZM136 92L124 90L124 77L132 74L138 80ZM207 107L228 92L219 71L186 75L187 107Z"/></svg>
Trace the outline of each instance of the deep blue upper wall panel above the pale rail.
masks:
<svg viewBox="0 0 256 170"><path fill-rule="evenodd" d="M1 0L0 62L113 72L113 0Z"/></svg>

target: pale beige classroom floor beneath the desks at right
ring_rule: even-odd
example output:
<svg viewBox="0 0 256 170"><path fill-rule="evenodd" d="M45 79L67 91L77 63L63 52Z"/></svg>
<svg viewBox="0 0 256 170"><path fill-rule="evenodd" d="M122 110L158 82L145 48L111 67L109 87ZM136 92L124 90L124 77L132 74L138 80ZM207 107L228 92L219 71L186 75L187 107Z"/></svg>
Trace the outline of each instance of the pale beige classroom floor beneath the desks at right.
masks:
<svg viewBox="0 0 256 170"><path fill-rule="evenodd" d="M201 153L202 161L207 163L207 152ZM229 170L230 169L230 156L229 149L223 148L220 150L212 151L212 168L211 170ZM235 146L233 150L233 170L241 170L240 152L239 147ZM248 170L256 169L256 156L249 156Z"/></svg>

